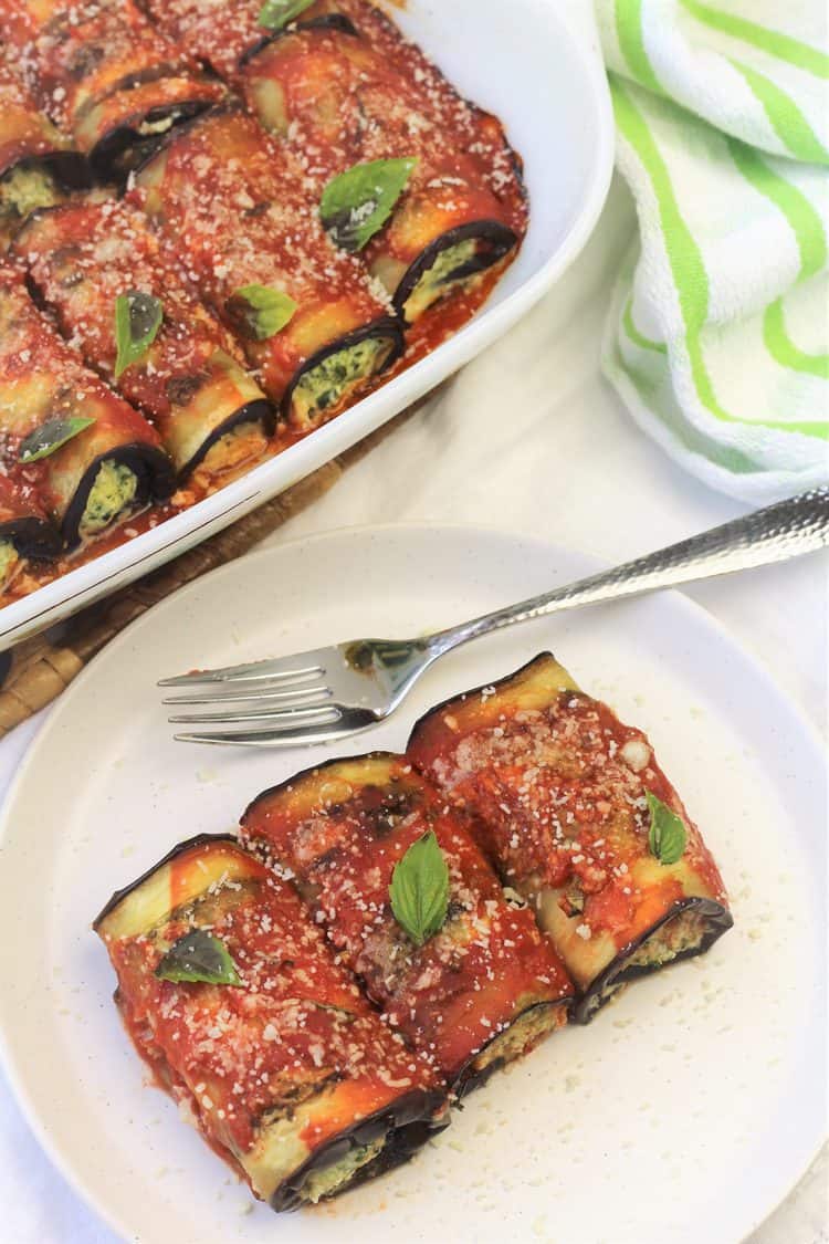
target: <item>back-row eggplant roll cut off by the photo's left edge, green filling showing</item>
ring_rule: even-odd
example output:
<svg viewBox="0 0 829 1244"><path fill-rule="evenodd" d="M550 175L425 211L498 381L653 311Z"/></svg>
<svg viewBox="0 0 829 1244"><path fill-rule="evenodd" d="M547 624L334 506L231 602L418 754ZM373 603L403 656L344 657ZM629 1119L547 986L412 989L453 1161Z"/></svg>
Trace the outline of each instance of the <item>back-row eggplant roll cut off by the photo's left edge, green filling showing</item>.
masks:
<svg viewBox="0 0 829 1244"><path fill-rule="evenodd" d="M37 109L14 67L0 55L0 249L35 208L60 203L85 187L83 156Z"/></svg>

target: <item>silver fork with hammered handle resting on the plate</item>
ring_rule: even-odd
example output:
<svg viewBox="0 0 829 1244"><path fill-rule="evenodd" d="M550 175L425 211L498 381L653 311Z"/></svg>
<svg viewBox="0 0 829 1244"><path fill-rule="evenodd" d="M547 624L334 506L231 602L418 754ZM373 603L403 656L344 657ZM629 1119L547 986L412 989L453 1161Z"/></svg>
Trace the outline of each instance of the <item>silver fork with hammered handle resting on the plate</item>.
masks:
<svg viewBox="0 0 829 1244"><path fill-rule="evenodd" d="M158 685L186 688L165 704L216 705L210 713L170 717L173 723L247 726L175 735L185 743L295 748L343 739L383 722L439 657L479 636L561 610L788 561L828 544L829 488L817 488L435 634L353 639L273 661L195 671Z"/></svg>

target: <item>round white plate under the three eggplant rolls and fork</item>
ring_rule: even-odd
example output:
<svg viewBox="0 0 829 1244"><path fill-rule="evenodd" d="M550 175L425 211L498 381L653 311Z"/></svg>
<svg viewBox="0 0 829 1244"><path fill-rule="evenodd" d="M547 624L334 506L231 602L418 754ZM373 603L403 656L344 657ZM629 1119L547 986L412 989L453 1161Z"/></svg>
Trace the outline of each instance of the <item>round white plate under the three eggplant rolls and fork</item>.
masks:
<svg viewBox="0 0 829 1244"><path fill-rule="evenodd" d="M172 741L155 679L367 633L446 626L594 569L472 529L352 530L252 555L131 627L65 694L2 822L0 1031L37 1136L142 1244L551 1240L736 1244L823 1131L822 754L768 677L679 595L564 615L440 662L384 726L336 748ZM733 897L711 953L634 985L496 1076L411 1164L277 1222L143 1085L89 921L194 833L326 755L401 748L430 704L553 648L643 725Z"/></svg>

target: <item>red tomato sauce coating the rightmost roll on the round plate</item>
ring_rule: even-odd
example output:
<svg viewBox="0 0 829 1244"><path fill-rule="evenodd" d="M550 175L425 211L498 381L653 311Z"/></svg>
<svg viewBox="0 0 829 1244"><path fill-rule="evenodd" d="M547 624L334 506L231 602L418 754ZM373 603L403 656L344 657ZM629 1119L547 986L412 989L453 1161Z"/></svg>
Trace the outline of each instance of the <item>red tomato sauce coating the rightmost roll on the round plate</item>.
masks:
<svg viewBox="0 0 829 1244"><path fill-rule="evenodd" d="M685 894L667 870L645 887L631 876L639 860L653 860L646 791L685 822L682 863L697 887L726 902L711 852L646 736L582 692L518 708L507 679L429 714L408 755L476 815L508 882L522 893L564 891L562 911L580 914L583 935L605 932L621 948Z"/></svg>

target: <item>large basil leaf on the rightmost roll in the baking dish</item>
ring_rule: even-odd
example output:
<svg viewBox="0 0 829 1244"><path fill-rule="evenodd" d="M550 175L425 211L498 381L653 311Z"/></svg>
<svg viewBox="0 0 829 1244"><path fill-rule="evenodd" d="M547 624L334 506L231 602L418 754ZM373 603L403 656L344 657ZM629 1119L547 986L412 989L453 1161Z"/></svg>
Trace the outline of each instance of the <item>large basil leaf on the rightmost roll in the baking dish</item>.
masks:
<svg viewBox="0 0 829 1244"><path fill-rule="evenodd" d="M362 250L392 215L416 163L414 158L375 159L329 182L319 215L333 241L343 250Z"/></svg>

